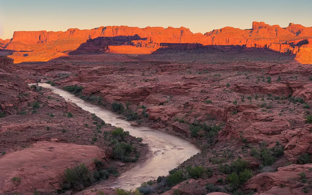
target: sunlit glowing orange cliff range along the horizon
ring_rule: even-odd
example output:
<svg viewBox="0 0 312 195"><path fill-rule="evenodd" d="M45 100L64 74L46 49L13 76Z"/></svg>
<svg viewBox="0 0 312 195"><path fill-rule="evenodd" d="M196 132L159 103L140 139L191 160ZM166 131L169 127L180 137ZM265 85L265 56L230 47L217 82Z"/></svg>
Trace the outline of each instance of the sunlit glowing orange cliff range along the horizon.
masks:
<svg viewBox="0 0 312 195"><path fill-rule="evenodd" d="M138 36L137 40L129 37ZM97 37L111 39L103 43L103 39L89 41ZM128 37L114 41L116 37ZM264 22L253 22L252 29L242 30L233 27L193 34L188 28L163 27L128 27L108 26L91 30L68 29L66 32L14 32L12 41L6 49L15 50L11 57L15 63L22 61L48 61L67 55L79 47L79 52L114 52L125 54L149 54L160 48L161 43L200 43L202 45L246 45L246 47L268 48L278 52L296 54L304 52L296 59L304 63L312 63L312 52L309 51L309 40L312 38L312 27L304 27L290 23L289 27L270 26ZM0 40L1 41L1 40ZM100 42L99 42L100 41ZM301 43L298 45L298 43ZM302 44L305 43L305 44ZM82 45L81 45L82 44ZM84 49L82 49L84 48ZM305 49L300 49L305 48ZM74 52L75 53L75 52ZM301 57L300 57L301 56ZM305 56L305 59L301 59Z"/></svg>

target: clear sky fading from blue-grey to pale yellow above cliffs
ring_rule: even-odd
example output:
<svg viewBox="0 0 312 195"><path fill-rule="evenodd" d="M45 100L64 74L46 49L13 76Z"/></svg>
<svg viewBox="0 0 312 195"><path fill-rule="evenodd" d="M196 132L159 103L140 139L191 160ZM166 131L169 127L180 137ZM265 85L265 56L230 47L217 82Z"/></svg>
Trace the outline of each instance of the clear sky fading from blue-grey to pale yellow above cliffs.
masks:
<svg viewBox="0 0 312 195"><path fill-rule="evenodd" d="M187 27L193 33L253 21L312 26L312 0L0 0L0 38L14 31L66 31L100 26Z"/></svg>

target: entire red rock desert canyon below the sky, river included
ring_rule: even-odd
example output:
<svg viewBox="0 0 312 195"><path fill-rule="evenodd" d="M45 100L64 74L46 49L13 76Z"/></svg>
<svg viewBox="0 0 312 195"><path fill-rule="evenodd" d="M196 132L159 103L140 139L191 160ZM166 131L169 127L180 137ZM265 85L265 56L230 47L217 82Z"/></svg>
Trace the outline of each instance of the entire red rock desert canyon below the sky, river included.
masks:
<svg viewBox="0 0 312 195"><path fill-rule="evenodd" d="M14 32L0 194L312 194L311 64L294 23Z"/></svg>

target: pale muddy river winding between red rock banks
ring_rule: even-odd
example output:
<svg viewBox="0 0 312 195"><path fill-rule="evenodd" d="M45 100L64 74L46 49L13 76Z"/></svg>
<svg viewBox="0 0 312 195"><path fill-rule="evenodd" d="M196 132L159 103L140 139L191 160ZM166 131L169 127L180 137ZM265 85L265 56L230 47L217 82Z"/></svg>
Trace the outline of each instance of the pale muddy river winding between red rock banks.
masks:
<svg viewBox="0 0 312 195"><path fill-rule="evenodd" d="M184 139L166 134L157 129L132 126L128 121L117 119L116 117L119 115L114 112L81 100L65 90L58 89L46 83L39 83L39 86L50 88L52 92L59 94L66 101L76 103L83 110L95 113L96 116L100 117L106 123L122 127L125 131L129 131L130 135L141 137L143 143L149 144L149 148L153 151L153 156L143 164L138 164L129 171L122 173L110 187L134 189L150 179L154 180L158 176L168 175L169 170L176 168L179 164L200 152L194 144Z"/></svg>

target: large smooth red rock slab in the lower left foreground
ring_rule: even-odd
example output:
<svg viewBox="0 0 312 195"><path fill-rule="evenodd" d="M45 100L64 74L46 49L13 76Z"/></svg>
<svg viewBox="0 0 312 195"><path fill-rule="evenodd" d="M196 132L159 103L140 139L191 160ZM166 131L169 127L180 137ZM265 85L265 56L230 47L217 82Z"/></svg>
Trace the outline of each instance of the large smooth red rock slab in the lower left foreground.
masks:
<svg viewBox="0 0 312 195"><path fill-rule="evenodd" d="M0 193L27 193L34 189L52 192L61 189L66 168L84 163L86 167L93 169L93 159L105 157L105 151L97 146L38 142L32 148L0 158ZM20 178L20 181L12 181L14 177Z"/></svg>

